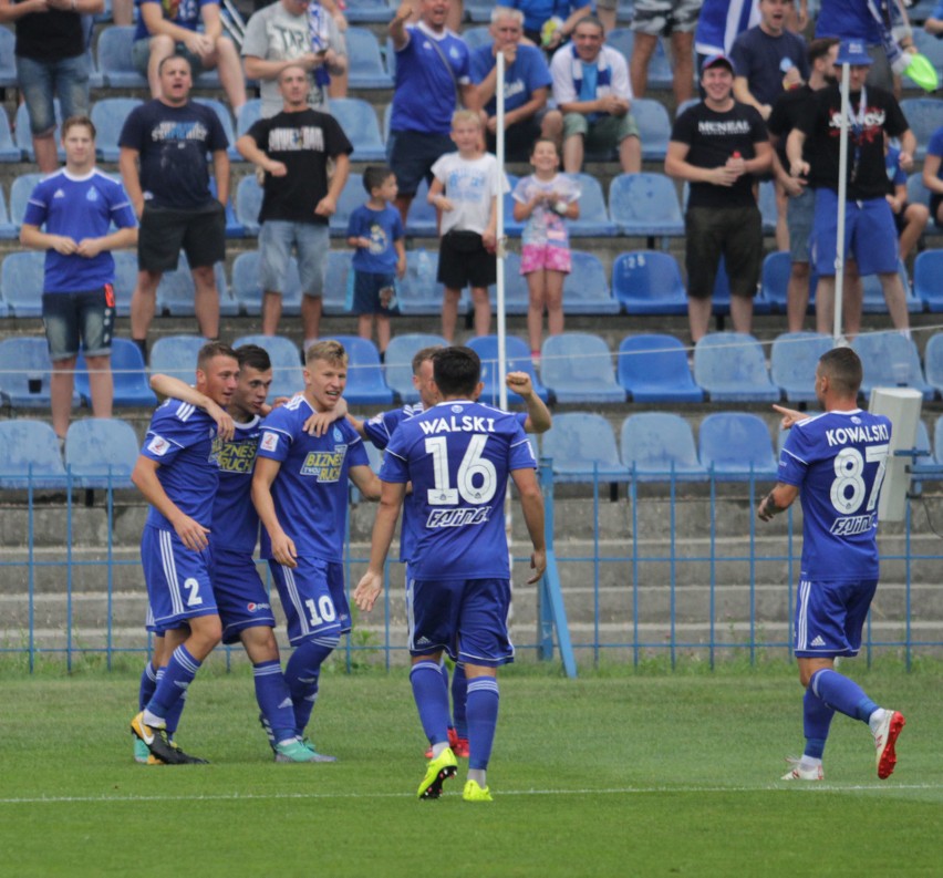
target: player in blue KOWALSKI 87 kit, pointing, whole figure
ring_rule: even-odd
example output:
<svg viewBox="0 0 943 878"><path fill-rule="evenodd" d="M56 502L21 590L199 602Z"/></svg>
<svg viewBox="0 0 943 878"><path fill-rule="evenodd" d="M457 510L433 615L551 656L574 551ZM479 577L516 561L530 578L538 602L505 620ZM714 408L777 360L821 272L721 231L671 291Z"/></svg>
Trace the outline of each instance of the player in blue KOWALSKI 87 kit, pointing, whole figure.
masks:
<svg viewBox="0 0 943 878"><path fill-rule="evenodd" d="M759 504L768 521L801 492L802 566L796 592L794 643L806 688L806 747L784 781L821 781L822 753L836 711L868 723L874 736L878 777L891 776L894 745L904 726L898 711L879 707L854 681L835 670L839 655L857 655L861 630L878 587L878 497L891 422L858 407L863 370L850 348L822 354L816 397L825 414L783 413L788 438L776 486Z"/></svg>

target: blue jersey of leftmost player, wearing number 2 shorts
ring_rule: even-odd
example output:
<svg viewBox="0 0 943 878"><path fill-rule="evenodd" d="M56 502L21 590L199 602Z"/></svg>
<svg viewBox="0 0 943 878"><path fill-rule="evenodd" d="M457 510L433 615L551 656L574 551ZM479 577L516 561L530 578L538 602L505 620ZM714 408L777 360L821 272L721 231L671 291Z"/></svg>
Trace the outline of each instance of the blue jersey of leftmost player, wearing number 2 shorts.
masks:
<svg viewBox="0 0 943 878"><path fill-rule="evenodd" d="M216 422L188 402L167 400L154 412L141 453L160 464L157 478L177 508L211 529L213 502L219 485ZM174 529L153 506L147 524Z"/></svg>

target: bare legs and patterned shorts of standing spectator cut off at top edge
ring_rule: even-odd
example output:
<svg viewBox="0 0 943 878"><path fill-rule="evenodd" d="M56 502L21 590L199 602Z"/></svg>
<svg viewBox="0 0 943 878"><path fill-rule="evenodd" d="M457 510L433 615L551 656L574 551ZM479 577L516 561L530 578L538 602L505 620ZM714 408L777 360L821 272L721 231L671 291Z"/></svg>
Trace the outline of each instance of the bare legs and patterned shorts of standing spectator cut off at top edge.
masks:
<svg viewBox="0 0 943 878"><path fill-rule="evenodd" d="M694 91L694 28L704 0L635 0L631 28L632 90L644 97L649 87L649 64L660 37L671 38L674 62L674 100L683 104Z"/></svg>

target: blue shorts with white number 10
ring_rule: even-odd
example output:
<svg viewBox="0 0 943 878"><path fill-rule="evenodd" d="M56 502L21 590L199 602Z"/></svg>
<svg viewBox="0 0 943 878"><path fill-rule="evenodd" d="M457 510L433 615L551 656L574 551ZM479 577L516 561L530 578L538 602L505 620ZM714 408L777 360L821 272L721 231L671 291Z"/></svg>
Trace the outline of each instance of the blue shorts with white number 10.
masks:
<svg viewBox="0 0 943 878"><path fill-rule="evenodd" d="M344 589L344 566L301 557L298 567L269 560L288 621L292 644L312 637L340 637L351 630L351 608Z"/></svg>

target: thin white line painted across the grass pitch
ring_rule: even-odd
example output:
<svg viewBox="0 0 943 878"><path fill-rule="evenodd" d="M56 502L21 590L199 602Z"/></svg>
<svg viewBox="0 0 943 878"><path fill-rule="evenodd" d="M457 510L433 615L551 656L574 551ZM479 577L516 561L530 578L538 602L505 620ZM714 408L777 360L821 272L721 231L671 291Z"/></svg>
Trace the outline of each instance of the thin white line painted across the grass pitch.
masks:
<svg viewBox="0 0 943 878"><path fill-rule="evenodd" d="M909 789L943 791L940 784L784 784L759 786L623 786L611 789L500 789L504 796L639 796L657 793L777 793L808 789L816 793L898 792ZM0 805L108 804L113 802L241 802L245 799L342 799L342 798L415 798L411 793L220 793L208 796L23 796L0 798Z"/></svg>

